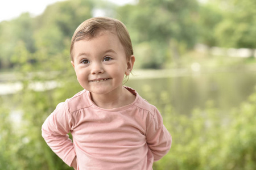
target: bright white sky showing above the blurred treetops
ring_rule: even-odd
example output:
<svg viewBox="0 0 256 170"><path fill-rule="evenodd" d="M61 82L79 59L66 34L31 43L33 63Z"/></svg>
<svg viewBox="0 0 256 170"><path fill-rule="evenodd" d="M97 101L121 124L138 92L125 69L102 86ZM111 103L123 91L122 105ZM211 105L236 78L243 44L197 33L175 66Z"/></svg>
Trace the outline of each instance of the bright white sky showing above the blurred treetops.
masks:
<svg viewBox="0 0 256 170"><path fill-rule="evenodd" d="M40 15L48 5L58 1L66 0L1 0L0 1L0 22L17 18L23 12L30 12L32 16ZM132 3L135 0L108 0L117 5Z"/></svg>

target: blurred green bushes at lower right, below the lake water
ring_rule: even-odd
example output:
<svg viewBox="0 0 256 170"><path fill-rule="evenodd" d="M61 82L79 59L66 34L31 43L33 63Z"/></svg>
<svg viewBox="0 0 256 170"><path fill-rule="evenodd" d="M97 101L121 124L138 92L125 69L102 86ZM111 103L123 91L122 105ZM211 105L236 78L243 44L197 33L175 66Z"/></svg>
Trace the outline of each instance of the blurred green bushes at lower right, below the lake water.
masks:
<svg viewBox="0 0 256 170"><path fill-rule="evenodd" d="M163 109L172 134L170 152L155 169L255 169L256 92L239 108L221 113L211 101L191 117Z"/></svg>

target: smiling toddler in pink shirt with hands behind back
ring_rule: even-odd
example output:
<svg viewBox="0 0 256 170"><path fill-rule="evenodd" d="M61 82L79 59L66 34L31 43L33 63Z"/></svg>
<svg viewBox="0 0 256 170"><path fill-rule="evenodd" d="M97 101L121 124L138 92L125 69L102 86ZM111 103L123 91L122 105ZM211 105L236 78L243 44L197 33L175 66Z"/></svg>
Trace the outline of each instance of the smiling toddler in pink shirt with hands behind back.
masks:
<svg viewBox="0 0 256 170"><path fill-rule="evenodd" d="M107 17L85 20L70 54L84 90L44 122L48 146L75 169L152 169L170 150L171 135L158 109L122 84L135 61L125 25Z"/></svg>

